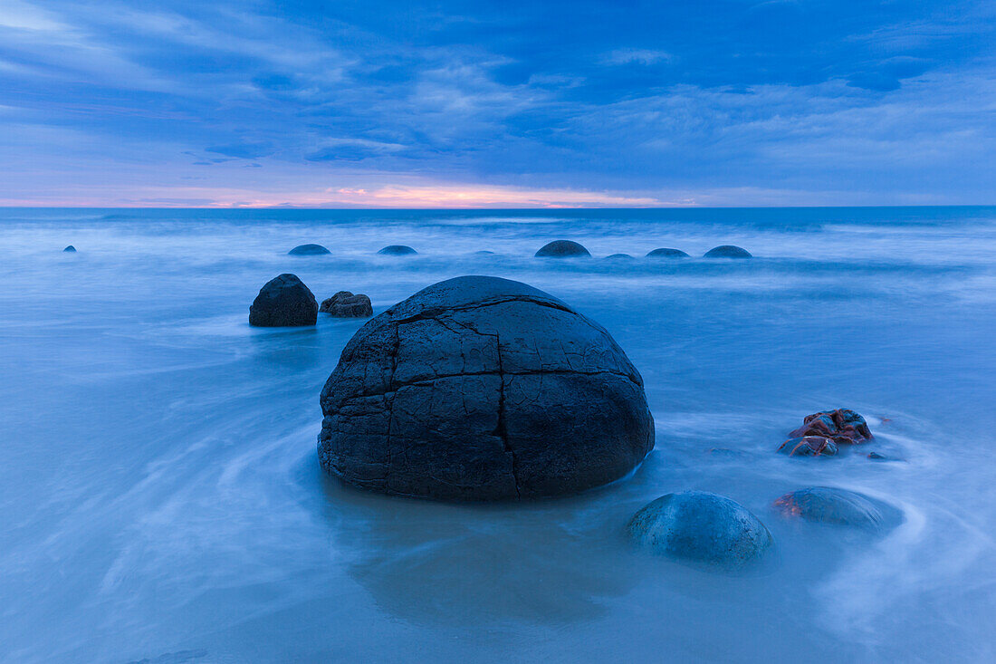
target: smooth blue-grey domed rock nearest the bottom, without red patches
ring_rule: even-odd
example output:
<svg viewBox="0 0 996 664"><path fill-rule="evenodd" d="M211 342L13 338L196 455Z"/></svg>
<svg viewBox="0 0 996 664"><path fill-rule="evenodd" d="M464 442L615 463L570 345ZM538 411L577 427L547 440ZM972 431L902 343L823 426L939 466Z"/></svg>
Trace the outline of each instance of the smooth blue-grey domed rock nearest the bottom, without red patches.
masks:
<svg viewBox="0 0 996 664"><path fill-rule="evenodd" d="M637 511L628 529L658 553L732 568L760 559L773 541L746 507L706 492L661 496Z"/></svg>

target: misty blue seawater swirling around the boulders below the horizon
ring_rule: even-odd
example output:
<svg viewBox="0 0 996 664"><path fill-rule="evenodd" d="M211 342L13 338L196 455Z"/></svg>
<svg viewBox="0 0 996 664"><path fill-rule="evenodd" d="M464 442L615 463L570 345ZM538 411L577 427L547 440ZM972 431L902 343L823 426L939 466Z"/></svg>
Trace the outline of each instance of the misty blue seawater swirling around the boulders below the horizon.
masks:
<svg viewBox="0 0 996 664"><path fill-rule="evenodd" d="M532 258L559 237L596 257ZM286 255L305 242L332 254ZM419 254L374 255L391 243ZM725 243L756 257L600 258ZM992 661L994 256L984 207L2 210L0 660ZM318 393L362 321L250 328L285 271L376 311L461 274L547 290L639 369L656 448L528 504L344 488L318 466ZM838 406L870 448L774 453ZM814 485L902 522L772 511ZM689 489L760 515L772 567L633 550L632 512Z"/></svg>

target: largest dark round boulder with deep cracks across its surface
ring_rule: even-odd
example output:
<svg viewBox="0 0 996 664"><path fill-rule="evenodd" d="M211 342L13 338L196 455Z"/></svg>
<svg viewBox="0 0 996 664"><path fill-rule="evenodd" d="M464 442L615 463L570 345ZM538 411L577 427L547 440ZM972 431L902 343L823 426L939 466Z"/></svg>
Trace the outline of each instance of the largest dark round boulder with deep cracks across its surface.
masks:
<svg viewBox="0 0 996 664"><path fill-rule="evenodd" d="M643 381L610 334L541 290L466 276L390 307L322 390L322 468L376 492L558 496L653 447Z"/></svg>

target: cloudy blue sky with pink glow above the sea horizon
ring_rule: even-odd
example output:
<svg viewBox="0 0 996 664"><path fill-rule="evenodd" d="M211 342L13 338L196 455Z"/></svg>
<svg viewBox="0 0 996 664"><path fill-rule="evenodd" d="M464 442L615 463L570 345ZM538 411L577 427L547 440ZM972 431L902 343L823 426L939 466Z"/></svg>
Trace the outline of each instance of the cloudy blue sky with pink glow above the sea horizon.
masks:
<svg viewBox="0 0 996 664"><path fill-rule="evenodd" d="M0 0L0 205L996 203L996 2Z"/></svg>

